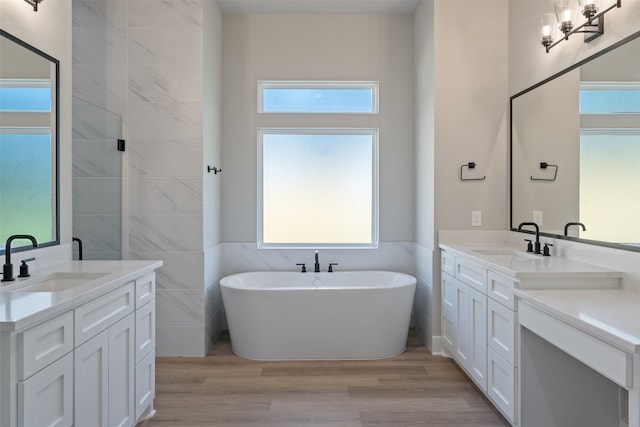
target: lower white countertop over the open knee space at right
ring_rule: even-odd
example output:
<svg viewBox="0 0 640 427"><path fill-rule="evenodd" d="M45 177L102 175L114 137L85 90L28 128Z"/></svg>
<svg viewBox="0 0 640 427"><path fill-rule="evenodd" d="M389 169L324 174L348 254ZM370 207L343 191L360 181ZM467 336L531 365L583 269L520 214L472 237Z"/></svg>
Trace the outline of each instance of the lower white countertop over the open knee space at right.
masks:
<svg viewBox="0 0 640 427"><path fill-rule="evenodd" d="M640 292L625 289L515 289L534 307L630 352L640 354Z"/></svg>

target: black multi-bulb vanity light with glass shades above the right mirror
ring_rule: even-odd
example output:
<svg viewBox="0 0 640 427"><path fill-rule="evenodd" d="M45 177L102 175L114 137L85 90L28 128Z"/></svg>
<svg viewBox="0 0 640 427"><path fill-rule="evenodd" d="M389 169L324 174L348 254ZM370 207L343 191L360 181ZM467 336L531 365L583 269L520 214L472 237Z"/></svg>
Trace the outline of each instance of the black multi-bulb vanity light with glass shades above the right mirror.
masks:
<svg viewBox="0 0 640 427"><path fill-rule="evenodd" d="M552 47L563 40L569 40L569 36L575 33L584 33L585 43L601 36L604 34L605 13L611 9L622 6L622 0L615 0L614 4L598 13L597 0L578 0L580 12L587 20L576 27L577 8L572 5L573 1L574 0L558 0L553 5L555 16L551 13L545 13L540 18L538 29L540 31L542 46L544 46L547 53L549 53ZM562 38L554 42L553 33L556 22L558 29L562 32Z"/></svg>

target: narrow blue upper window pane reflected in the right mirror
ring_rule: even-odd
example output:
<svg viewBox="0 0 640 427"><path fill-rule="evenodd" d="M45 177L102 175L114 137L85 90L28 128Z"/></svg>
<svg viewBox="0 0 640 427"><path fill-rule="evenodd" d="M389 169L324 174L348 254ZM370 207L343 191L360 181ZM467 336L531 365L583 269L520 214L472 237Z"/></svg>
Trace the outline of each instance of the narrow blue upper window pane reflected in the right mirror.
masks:
<svg viewBox="0 0 640 427"><path fill-rule="evenodd" d="M580 90L581 113L640 113L640 90Z"/></svg>

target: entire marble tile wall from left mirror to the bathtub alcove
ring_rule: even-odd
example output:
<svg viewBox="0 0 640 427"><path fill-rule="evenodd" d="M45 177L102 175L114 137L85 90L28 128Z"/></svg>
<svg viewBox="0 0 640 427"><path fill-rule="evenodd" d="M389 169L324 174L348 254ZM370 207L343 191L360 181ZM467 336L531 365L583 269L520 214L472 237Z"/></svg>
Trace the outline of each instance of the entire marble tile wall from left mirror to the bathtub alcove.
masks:
<svg viewBox="0 0 640 427"><path fill-rule="evenodd" d="M73 0L74 235L87 258L164 261L159 356L206 354L220 324L202 243L203 1Z"/></svg>

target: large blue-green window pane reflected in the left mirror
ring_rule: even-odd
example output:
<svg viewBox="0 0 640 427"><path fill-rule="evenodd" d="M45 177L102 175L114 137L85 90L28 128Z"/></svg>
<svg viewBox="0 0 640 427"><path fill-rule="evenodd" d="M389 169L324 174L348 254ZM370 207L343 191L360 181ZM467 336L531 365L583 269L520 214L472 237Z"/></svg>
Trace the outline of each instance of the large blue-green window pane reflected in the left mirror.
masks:
<svg viewBox="0 0 640 427"><path fill-rule="evenodd" d="M0 241L17 233L54 237L51 159L50 134L0 133Z"/></svg>

